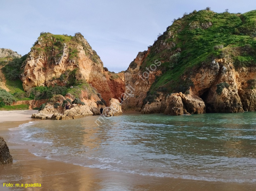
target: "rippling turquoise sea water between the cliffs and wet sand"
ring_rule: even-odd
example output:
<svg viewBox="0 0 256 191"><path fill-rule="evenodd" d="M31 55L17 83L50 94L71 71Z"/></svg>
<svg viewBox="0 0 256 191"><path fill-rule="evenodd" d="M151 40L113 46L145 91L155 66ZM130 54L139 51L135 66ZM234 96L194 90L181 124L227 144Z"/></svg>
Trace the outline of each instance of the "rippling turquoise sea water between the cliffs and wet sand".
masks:
<svg viewBox="0 0 256 191"><path fill-rule="evenodd" d="M81 166L157 177L256 182L256 113L126 114L34 121L10 141L34 155Z"/></svg>

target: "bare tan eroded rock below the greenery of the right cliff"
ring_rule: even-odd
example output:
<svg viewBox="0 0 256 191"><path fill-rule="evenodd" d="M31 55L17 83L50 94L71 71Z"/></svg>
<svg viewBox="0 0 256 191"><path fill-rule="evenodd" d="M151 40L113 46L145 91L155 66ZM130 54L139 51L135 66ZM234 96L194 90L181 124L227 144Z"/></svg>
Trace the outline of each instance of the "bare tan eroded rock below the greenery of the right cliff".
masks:
<svg viewBox="0 0 256 191"><path fill-rule="evenodd" d="M138 62L137 66L139 64ZM156 98L155 102L145 104L144 106L142 103L143 99L146 97L154 77L152 76L152 81L149 83L150 77L144 81L136 77L134 78L137 75L136 73L140 73L138 68L129 69L125 73L125 83L133 85L134 90L132 89L132 94L135 94L134 98L128 98L124 101L125 110L137 110L143 114L162 113L165 111L165 113L171 115L183 115L186 112L201 114L205 112L241 113L244 111L256 111L256 91L254 90L254 86L256 87L255 67L235 70L233 63L227 62L225 59L214 59L211 64L202 63L202 66L197 71L190 76L184 76L184 78L191 79L194 84L188 90L188 94L175 95L176 98L173 94L167 99L166 95L157 92L161 94L161 99ZM157 71L149 76L156 75L156 73ZM248 84L254 81L254 85ZM223 84L226 86L222 87L221 90L217 90ZM173 102L170 105L168 100L175 100L176 103Z"/></svg>

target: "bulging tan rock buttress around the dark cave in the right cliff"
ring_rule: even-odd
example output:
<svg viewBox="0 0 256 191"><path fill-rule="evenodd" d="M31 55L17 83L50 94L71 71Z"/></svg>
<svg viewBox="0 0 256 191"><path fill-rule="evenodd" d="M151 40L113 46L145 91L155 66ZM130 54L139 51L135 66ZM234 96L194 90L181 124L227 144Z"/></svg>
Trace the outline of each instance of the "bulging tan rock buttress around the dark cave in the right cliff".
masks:
<svg viewBox="0 0 256 191"><path fill-rule="evenodd" d="M225 59L215 59L210 67L202 67L192 77L195 87L191 90L201 96L206 105L206 111L211 113L241 113L244 112L238 90L243 81L233 64ZM217 92L217 87L226 84Z"/></svg>

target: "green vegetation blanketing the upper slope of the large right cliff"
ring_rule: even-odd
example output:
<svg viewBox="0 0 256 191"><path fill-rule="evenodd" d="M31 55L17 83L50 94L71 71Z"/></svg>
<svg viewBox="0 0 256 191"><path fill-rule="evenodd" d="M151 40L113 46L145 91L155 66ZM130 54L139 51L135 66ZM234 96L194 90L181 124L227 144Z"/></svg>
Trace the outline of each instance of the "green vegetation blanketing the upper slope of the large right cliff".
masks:
<svg viewBox="0 0 256 191"><path fill-rule="evenodd" d="M168 93L185 92L193 86L187 76L213 59L225 58L236 68L256 66L255 38L256 10L244 14L193 11L158 36L140 69L144 72L155 60L162 62L158 68L162 75L151 86L151 95L163 87Z"/></svg>

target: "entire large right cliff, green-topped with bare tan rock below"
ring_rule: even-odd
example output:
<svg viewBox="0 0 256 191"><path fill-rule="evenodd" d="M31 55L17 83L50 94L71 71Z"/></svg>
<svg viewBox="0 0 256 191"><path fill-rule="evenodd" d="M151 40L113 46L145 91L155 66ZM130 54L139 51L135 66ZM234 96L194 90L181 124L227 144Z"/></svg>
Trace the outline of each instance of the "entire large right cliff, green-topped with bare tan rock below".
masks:
<svg viewBox="0 0 256 191"><path fill-rule="evenodd" d="M171 115L256 111L256 11L193 11L125 72L123 108ZM129 94L134 94L129 95Z"/></svg>

